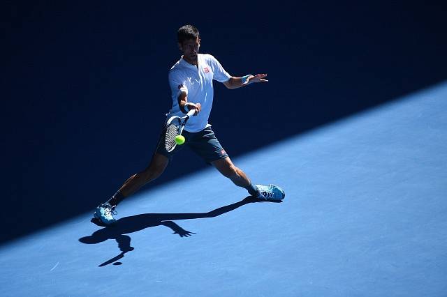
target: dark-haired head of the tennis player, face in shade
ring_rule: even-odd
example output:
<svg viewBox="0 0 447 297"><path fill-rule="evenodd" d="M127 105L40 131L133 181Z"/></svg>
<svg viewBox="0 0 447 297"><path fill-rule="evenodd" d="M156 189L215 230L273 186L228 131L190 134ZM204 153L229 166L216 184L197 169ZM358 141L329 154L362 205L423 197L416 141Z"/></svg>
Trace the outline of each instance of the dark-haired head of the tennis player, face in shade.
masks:
<svg viewBox="0 0 447 297"><path fill-rule="evenodd" d="M197 63L197 54L200 47L198 29L190 24L181 26L177 31L179 49L183 52L183 59L189 63Z"/></svg>

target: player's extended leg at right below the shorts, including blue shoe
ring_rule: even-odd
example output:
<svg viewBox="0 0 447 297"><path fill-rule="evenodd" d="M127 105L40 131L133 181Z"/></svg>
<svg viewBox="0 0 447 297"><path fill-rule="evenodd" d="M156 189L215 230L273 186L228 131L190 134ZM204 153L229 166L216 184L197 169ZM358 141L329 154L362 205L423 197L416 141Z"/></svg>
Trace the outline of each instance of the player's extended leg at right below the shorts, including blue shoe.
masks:
<svg viewBox="0 0 447 297"><path fill-rule="evenodd" d="M254 185L251 183L247 174L237 168L233 162L231 162L229 157L214 161L212 162L212 165L214 165L223 176L230 178L235 185L247 189L249 194L253 197L272 200L284 199L284 191L276 185Z"/></svg>

